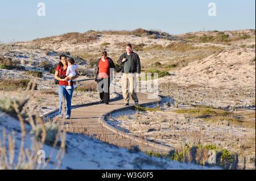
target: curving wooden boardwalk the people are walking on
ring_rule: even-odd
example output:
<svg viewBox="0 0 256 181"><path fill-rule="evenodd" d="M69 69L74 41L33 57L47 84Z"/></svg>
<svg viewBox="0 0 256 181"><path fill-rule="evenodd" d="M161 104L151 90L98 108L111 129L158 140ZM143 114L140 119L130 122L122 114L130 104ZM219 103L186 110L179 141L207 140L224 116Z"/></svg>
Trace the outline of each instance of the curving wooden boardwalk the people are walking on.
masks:
<svg viewBox="0 0 256 181"><path fill-rule="evenodd" d="M138 99L139 104L144 106L148 103L160 102L160 98L158 96L154 96L154 99L152 99L151 95L151 98L148 99L148 94L146 93L138 93ZM170 146L155 144L153 142L146 141L143 138L135 137L130 133L118 131L118 129L115 129L106 123L105 119L111 113L118 110L130 109L132 106L134 106L132 99L130 99L129 107L123 106L122 95L119 94L118 98L110 101L109 105L93 104L73 108L71 120L68 120L67 122L67 120L61 119L59 121L60 124L65 123L64 127L68 132L86 134L121 148L130 149L137 145L138 148L144 152L152 151L168 153L168 151L172 149Z"/></svg>

